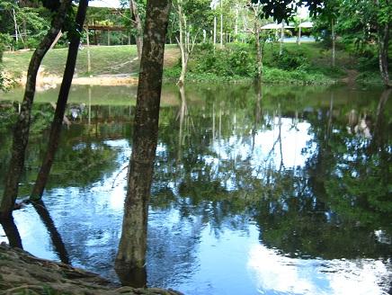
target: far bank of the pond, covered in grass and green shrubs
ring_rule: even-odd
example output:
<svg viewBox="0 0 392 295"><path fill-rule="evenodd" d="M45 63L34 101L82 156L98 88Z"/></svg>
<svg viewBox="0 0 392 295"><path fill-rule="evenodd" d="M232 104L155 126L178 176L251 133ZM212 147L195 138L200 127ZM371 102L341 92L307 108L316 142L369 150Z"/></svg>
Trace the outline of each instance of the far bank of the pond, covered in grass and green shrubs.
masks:
<svg viewBox="0 0 392 295"><path fill-rule="evenodd" d="M74 85L136 85L138 84L138 58L135 46L93 46L79 51ZM15 77L19 85L26 81L31 50L4 53L4 70ZM336 67L331 67L331 50L318 43L300 46L287 43L283 55L278 44L267 44L263 58L263 83L291 85L332 85L336 83L380 84L379 74L362 73L358 60L344 50L336 52ZM61 83L67 58L67 49L52 49L42 61L37 78L38 90ZM175 45L166 45L166 81L180 76L180 52ZM238 82L253 80L255 76L254 46L227 44L225 49L200 46L192 53L186 80L190 82ZM88 64L91 66L89 67ZM352 73L355 73L353 75ZM360 77L359 79L357 79ZM370 77L370 78L369 78Z"/></svg>

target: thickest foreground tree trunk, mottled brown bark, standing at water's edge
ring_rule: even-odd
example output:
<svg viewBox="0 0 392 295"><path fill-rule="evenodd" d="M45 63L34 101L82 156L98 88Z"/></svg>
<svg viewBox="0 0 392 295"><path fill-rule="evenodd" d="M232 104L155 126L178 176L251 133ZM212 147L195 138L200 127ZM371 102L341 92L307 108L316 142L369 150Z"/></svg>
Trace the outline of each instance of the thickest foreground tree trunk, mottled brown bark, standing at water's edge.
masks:
<svg viewBox="0 0 392 295"><path fill-rule="evenodd" d="M140 63L128 191L115 269L123 284L146 284L147 215L164 66L165 34L170 0L148 0ZM136 275L135 275L136 274ZM136 276L144 282L135 282Z"/></svg>

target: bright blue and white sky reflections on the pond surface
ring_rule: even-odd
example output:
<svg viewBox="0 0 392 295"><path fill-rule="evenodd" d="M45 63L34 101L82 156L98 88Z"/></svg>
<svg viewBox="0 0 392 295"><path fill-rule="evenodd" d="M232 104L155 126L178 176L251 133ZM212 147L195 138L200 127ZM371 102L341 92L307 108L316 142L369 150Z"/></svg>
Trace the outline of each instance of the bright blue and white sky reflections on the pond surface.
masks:
<svg viewBox="0 0 392 295"><path fill-rule="evenodd" d="M315 139L311 121L279 119L277 115L269 119L268 128L252 130L249 126L237 126L238 129L234 128L226 136L221 135L216 126L208 156L198 155L205 165L211 165L211 180L218 179L225 193L236 191L242 180L228 178L223 183L220 177L227 171L218 171L224 162L245 167L253 177L263 178L263 174L258 173L266 165L276 170L280 166L283 169L304 167L308 156L315 151L315 143L309 146ZM44 201L71 263L116 280L113 261L120 239L131 147L127 139L104 140L104 144L117 151L113 171L102 174L100 180L85 187L54 186L46 192ZM83 149L86 145L77 143L73 148ZM165 166L162 161L170 156L171 148L160 141L156 151L161 159L160 169L165 174L172 173L170 164ZM307 155L302 152L304 148ZM234 175L240 177L240 173L238 170ZM189 175L193 181L199 180L198 171L192 170ZM265 228L254 223L254 215L229 212L215 217L214 210L223 211L224 208L218 206L223 206L225 200L195 203L191 196L180 193L181 182L182 179L175 178L159 183L165 184L174 200L162 207L153 204L149 210L147 273L150 286L173 288L185 294L388 294L392 283L390 259L327 260L285 255L281 249L273 248L273 239L269 241L264 235L263 240ZM224 194L224 198L228 194ZM321 215L326 215L326 221L330 222L331 214L325 211ZM13 215L27 251L58 259L49 233L32 207L15 211ZM269 230L271 235L274 229ZM378 233L381 240L383 231ZM384 239L390 245L388 238ZM0 228L0 242L4 240Z"/></svg>

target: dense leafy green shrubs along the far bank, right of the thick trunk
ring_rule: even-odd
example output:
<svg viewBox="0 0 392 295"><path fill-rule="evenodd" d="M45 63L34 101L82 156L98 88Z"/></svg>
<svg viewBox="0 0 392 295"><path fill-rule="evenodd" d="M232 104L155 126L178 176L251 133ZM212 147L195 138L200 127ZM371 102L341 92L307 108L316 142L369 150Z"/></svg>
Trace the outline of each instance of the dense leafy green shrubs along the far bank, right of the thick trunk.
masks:
<svg viewBox="0 0 392 295"><path fill-rule="evenodd" d="M273 84L333 84L347 76L347 70L376 77L371 83L381 83L377 68L361 66L360 62L373 63L377 58L355 57L343 49L337 50L336 67L332 67L331 50L321 43L285 43L280 54L280 44L267 43L263 52L263 82ZM365 72L365 68L371 68ZM181 63L165 69L165 77L175 79L180 75ZM365 74L366 73L366 74ZM230 81L252 79L256 76L254 44L231 43L224 49L203 44L192 52L186 78L192 81Z"/></svg>

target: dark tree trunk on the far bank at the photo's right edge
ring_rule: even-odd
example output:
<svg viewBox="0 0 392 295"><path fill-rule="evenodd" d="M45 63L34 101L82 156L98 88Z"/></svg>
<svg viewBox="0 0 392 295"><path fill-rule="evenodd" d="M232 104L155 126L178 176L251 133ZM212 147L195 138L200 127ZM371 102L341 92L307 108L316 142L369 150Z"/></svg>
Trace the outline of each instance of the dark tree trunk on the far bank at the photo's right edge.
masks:
<svg viewBox="0 0 392 295"><path fill-rule="evenodd" d="M384 28L379 29L379 72L384 85L388 88L392 87L388 73L389 30L389 23L386 23Z"/></svg>

